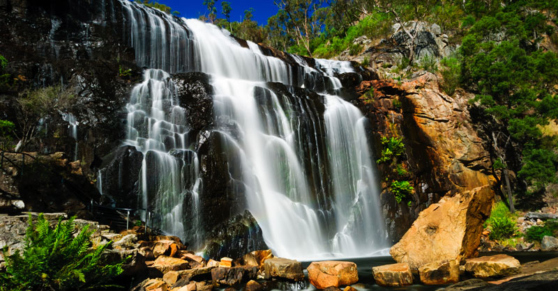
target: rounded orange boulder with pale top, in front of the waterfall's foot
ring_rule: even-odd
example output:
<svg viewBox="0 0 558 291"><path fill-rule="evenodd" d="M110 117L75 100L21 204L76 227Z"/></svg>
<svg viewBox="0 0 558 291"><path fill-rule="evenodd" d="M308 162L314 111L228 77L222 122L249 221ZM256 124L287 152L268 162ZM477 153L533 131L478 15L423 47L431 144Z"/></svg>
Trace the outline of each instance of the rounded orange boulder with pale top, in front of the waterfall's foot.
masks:
<svg viewBox="0 0 558 291"><path fill-rule="evenodd" d="M317 289L351 285L359 281L354 262L312 262L306 269L310 283Z"/></svg>

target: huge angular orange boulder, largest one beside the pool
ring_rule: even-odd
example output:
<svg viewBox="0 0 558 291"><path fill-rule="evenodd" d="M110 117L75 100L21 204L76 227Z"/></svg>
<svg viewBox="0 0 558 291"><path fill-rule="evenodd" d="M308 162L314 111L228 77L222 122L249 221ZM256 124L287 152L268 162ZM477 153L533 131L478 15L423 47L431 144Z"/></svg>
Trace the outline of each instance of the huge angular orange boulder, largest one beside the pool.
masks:
<svg viewBox="0 0 558 291"><path fill-rule="evenodd" d="M493 197L488 185L443 197L418 215L391 247L391 256L413 269L438 260L471 258L481 242L483 221L490 215Z"/></svg>

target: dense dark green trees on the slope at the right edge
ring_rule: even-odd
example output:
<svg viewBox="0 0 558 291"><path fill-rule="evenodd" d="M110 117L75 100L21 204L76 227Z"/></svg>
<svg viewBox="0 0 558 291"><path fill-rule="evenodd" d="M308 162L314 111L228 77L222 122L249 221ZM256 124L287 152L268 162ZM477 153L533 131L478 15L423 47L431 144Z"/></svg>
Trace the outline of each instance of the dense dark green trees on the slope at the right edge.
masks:
<svg viewBox="0 0 558 291"><path fill-rule="evenodd" d="M543 36L555 33L545 12L556 11L553 2L466 4L477 21L460 47L462 85L477 92L474 101L504 124L520 145L522 164L514 171L527 184L520 194L541 192L557 182L556 146L543 136L541 126L558 118L553 89L558 84L558 56L539 46Z"/></svg>

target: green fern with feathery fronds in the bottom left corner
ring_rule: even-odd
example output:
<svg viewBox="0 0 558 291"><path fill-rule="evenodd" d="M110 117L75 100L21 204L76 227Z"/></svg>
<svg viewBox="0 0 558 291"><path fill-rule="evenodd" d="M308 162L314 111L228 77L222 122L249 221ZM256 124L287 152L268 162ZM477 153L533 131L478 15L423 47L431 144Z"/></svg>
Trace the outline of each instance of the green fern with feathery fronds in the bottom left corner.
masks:
<svg viewBox="0 0 558 291"><path fill-rule="evenodd" d="M31 221L25 234L24 251L6 255L6 272L0 274L1 290L85 290L116 287L107 281L122 273L122 262L103 264L101 254L109 244L91 249L93 230L82 228L73 236L75 225L59 219L52 228L43 214Z"/></svg>

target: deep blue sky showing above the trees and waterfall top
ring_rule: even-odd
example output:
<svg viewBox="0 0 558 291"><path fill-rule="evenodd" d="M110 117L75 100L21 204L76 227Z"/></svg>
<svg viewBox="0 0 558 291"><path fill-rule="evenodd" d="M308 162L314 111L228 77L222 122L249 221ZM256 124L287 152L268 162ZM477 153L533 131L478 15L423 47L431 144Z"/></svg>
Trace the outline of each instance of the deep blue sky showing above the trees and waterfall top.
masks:
<svg viewBox="0 0 558 291"><path fill-rule="evenodd" d="M207 14L207 8L203 5L204 0L156 0L159 3L165 4L170 8L179 11L182 17L186 18L197 18L199 15ZM223 17L220 14L221 2L223 0L216 1L216 7L219 13L219 17ZM266 24L267 18L275 15L277 13L277 6L273 4L273 0L228 0L231 4L231 21L241 21L244 17L244 10L248 8L254 8L253 13L255 21L258 24Z"/></svg>

